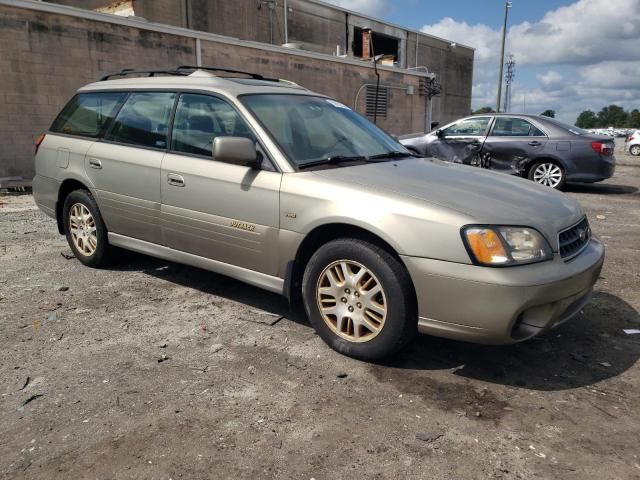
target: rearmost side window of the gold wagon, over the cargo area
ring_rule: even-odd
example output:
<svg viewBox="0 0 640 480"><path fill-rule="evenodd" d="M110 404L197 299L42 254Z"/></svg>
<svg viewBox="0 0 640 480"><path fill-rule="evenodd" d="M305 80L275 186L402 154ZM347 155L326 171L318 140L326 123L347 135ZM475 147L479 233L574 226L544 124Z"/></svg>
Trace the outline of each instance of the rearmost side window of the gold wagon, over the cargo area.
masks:
<svg viewBox="0 0 640 480"><path fill-rule="evenodd" d="M82 137L101 137L126 96L122 92L80 93L62 109L50 130Z"/></svg>

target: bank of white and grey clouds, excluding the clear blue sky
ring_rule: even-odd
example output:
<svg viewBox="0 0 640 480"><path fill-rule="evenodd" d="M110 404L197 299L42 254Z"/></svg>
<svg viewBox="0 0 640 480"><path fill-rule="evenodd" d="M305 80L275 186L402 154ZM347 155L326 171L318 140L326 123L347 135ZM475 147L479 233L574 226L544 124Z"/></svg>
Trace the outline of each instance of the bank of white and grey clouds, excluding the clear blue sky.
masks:
<svg viewBox="0 0 640 480"><path fill-rule="evenodd" d="M517 8L517 4L514 6ZM473 108L495 106L500 31L444 18L422 30L476 48ZM585 109L640 104L640 0L579 0L540 21L513 25L507 53L517 62L512 110L555 109L575 121ZM523 82L527 66L546 66L537 85ZM559 71L562 73L559 73ZM523 99L525 102L523 102Z"/></svg>

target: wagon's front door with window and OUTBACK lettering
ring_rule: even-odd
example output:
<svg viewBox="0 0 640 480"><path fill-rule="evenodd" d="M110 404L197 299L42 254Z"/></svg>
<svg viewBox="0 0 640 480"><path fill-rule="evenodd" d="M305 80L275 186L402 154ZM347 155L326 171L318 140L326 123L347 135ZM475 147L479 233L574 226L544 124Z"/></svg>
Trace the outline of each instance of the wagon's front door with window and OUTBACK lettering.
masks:
<svg viewBox="0 0 640 480"><path fill-rule="evenodd" d="M219 97L184 93L178 100L170 151L162 161L165 245L276 275L282 175L212 158L217 136L255 136Z"/></svg>

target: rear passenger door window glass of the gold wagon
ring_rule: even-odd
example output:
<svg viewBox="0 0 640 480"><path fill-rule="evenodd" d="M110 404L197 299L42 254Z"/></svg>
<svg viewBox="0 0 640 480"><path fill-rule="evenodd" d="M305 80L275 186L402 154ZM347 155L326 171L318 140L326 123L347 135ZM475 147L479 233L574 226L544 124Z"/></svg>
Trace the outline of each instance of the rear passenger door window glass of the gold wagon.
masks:
<svg viewBox="0 0 640 480"><path fill-rule="evenodd" d="M132 93L120 109L106 140L142 147L166 148L175 93Z"/></svg>

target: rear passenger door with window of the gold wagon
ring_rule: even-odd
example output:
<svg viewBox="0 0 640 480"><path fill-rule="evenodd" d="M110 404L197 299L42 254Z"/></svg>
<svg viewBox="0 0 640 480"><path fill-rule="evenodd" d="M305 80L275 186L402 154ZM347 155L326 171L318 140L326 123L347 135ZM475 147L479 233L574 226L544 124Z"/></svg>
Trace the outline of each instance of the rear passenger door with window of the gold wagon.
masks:
<svg viewBox="0 0 640 480"><path fill-rule="evenodd" d="M160 167L174 92L133 92L85 158L110 232L161 243Z"/></svg>

